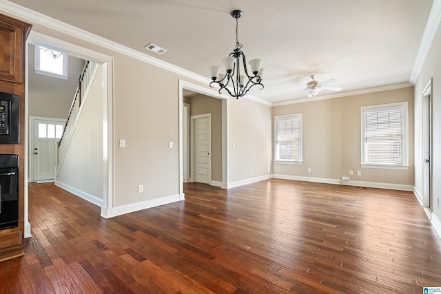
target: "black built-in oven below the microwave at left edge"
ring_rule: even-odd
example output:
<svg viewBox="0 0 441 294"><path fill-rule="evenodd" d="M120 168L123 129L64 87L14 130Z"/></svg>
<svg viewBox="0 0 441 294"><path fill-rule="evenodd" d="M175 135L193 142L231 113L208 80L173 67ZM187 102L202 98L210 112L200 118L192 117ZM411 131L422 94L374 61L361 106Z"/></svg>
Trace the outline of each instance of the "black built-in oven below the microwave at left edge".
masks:
<svg viewBox="0 0 441 294"><path fill-rule="evenodd" d="M19 156L0 154L0 230L19 227Z"/></svg>

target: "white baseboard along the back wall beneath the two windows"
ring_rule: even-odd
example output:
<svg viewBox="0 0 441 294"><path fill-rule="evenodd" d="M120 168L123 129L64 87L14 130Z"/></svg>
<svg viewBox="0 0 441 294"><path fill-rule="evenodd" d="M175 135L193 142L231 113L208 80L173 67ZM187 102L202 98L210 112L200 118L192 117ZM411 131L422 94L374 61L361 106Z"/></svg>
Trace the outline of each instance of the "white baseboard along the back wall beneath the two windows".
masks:
<svg viewBox="0 0 441 294"><path fill-rule="evenodd" d="M336 184L336 185L345 185L345 186L413 191L413 186L411 185L389 184L385 182L362 182L358 180L345 181L345 180L332 179L332 178L311 178L304 176L289 176L289 175L281 175L281 174L274 174L273 178L280 178L284 180L303 180L305 182L322 182L324 184Z"/></svg>

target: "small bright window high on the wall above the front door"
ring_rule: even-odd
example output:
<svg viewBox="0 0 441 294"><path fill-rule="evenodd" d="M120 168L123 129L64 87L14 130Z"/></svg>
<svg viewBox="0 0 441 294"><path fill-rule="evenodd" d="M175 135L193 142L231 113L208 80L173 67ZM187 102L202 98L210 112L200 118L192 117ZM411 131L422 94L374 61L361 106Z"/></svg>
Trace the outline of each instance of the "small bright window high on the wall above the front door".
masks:
<svg viewBox="0 0 441 294"><path fill-rule="evenodd" d="M35 72L57 78L68 78L68 56L43 45L35 45Z"/></svg>

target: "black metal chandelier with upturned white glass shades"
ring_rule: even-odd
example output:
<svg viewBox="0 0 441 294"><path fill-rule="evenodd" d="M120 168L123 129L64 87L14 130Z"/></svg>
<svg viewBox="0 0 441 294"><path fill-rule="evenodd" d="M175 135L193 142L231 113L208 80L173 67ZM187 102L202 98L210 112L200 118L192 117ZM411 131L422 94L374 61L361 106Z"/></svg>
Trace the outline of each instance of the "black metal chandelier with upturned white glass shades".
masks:
<svg viewBox="0 0 441 294"><path fill-rule="evenodd" d="M245 96L249 89L255 85L260 85L260 90L263 89L262 76L264 69L260 68L262 65L262 59L252 59L249 61L252 74L248 74L247 63L245 54L242 52L243 45L239 43L238 39L238 19L242 16L242 11L233 10L232 17L236 19L236 49L229 54L228 57L222 59L222 63L225 67L225 73L219 73L220 67L211 66L209 71L211 74L212 82L209 83L210 87L214 87L212 84L219 85L219 94L223 89L227 90L228 94L238 99ZM242 61L240 61L240 58ZM243 68L241 68L243 67ZM243 70L243 73L241 72ZM230 91L230 89L232 91Z"/></svg>

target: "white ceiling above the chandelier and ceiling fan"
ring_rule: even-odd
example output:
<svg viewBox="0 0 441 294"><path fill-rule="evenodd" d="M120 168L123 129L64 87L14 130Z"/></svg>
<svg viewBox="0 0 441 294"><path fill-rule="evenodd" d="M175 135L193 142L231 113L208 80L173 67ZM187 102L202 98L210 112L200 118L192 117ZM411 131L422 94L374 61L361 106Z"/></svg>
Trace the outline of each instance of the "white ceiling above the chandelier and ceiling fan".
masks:
<svg viewBox="0 0 441 294"><path fill-rule="evenodd" d="M4 2L4 1L3 1ZM128 48L209 76L239 41L264 60L270 103L306 98L310 74L347 94L409 83L433 0L12 0ZM1 4L1 3L0 3ZM167 52L148 52L154 43ZM207 80L208 81L208 80ZM300 85L298 85L300 84ZM335 94L322 91L318 96Z"/></svg>

